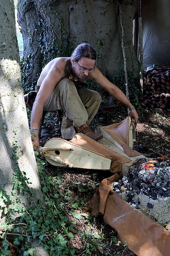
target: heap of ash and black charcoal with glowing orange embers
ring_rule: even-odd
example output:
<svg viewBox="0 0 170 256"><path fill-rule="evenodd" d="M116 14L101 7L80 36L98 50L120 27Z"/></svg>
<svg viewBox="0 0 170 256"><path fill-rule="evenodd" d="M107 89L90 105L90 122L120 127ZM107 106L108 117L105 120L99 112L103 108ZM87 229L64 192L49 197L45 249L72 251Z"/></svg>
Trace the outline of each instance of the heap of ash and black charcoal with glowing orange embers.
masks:
<svg viewBox="0 0 170 256"><path fill-rule="evenodd" d="M170 160L142 159L110 186L132 207L170 230Z"/></svg>

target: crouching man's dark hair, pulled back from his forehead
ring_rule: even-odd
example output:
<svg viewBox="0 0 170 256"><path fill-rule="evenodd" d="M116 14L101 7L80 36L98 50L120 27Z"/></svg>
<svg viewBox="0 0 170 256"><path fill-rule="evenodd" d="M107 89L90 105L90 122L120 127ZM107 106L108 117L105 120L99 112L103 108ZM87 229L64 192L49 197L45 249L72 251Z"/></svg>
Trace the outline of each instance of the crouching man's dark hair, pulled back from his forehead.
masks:
<svg viewBox="0 0 170 256"><path fill-rule="evenodd" d="M71 60L79 61L80 58L90 58L96 60L96 51L90 45L86 43L79 44L71 54Z"/></svg>

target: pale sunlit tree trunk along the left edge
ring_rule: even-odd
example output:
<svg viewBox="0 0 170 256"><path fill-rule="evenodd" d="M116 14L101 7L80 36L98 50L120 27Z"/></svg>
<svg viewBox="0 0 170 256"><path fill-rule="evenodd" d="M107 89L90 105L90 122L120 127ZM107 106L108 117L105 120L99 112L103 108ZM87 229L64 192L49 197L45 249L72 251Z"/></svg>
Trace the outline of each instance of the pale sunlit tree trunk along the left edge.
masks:
<svg viewBox="0 0 170 256"><path fill-rule="evenodd" d="M0 189L11 195L14 171L26 177L40 199L41 186L21 87L14 3L0 0ZM22 176L21 175L21 176ZM26 198L23 197L26 202Z"/></svg>

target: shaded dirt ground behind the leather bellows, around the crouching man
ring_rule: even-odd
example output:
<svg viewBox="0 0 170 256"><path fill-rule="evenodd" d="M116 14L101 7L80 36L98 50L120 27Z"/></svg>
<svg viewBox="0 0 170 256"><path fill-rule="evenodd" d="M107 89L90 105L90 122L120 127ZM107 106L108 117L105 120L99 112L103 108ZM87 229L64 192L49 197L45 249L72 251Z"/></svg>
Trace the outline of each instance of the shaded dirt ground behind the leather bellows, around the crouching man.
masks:
<svg viewBox="0 0 170 256"><path fill-rule="evenodd" d="M170 109L148 110L141 108L138 111L139 120L136 127L136 142L133 149L147 155L151 153L162 154L170 158ZM125 119L127 113L124 109L117 109L111 113L96 115L91 128L96 125L111 125ZM42 126L41 145L52 138L59 137L59 121L55 112L51 112Z"/></svg>

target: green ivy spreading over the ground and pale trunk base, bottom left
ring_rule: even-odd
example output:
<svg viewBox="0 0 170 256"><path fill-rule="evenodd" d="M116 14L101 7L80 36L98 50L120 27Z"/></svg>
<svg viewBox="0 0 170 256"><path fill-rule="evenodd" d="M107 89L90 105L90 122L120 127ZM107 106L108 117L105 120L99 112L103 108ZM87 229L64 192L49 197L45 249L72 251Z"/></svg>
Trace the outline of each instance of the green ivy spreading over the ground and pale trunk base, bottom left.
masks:
<svg viewBox="0 0 170 256"><path fill-rule="evenodd" d="M51 256L73 256L75 249L69 242L74 237L73 224L65 212L62 192L59 188L56 190L62 182L61 175L57 175L57 179L46 175L46 163L40 158L37 158L37 164L45 205L41 201L32 200L33 189L28 187L26 174L21 174L18 168L14 170L12 179L13 199L6 192L0 191L0 209L2 216L6 216L0 228L0 238L3 240L0 255L9 255L12 241L18 255L33 256L35 248L32 241L36 239L36 244L42 244ZM21 204L22 195L28 198L27 206ZM17 218L12 218L15 215Z"/></svg>

